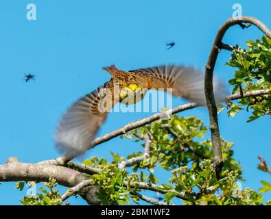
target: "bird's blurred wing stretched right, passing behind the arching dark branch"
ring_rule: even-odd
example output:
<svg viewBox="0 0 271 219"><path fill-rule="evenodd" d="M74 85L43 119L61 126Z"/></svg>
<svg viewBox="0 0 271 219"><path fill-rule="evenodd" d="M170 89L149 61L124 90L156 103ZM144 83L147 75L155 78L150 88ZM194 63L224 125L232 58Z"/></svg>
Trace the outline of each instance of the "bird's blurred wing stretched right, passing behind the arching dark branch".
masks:
<svg viewBox="0 0 271 219"><path fill-rule="evenodd" d="M185 66L156 66L130 70L137 73L136 77L144 88L172 88L172 94L189 101L205 105L204 73L201 70ZM226 89L223 83L213 80L216 101L224 99Z"/></svg>

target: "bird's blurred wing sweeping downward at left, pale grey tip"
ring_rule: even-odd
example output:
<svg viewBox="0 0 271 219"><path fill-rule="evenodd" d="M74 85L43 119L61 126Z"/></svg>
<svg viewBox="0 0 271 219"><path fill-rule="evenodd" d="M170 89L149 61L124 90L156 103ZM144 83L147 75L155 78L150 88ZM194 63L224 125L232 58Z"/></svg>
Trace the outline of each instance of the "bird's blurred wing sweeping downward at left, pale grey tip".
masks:
<svg viewBox="0 0 271 219"><path fill-rule="evenodd" d="M68 157L77 157L92 148L91 142L106 116L115 105L113 81L104 83L75 102L60 120L56 146Z"/></svg>

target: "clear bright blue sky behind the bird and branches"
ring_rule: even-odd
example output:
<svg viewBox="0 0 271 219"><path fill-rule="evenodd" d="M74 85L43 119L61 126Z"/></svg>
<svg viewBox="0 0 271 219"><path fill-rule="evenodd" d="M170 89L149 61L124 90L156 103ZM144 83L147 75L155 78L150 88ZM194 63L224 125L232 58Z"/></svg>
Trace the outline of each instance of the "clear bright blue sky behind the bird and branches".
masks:
<svg viewBox="0 0 271 219"><path fill-rule="evenodd" d="M36 21L26 19L26 5L36 4ZM54 148L54 131L67 107L108 81L103 66L123 70L178 63L204 68L218 27L231 17L232 5L241 3L243 15L255 16L271 27L271 2L255 1L0 1L0 164L10 156L21 162L39 162L60 154ZM233 27L224 42L245 45L261 38L255 27ZM165 42L176 42L166 50ZM222 51L215 74L227 81L233 68L224 66L230 53ZM25 83L24 73L36 75ZM183 103L174 99L174 105ZM150 113L110 114L99 135ZM209 124L206 109L182 112ZM228 118L219 115L223 138L235 142L235 158L244 168L242 186L261 187L270 177L257 170L257 155L271 163L270 118L246 123L249 113ZM208 133L208 138L210 133ZM110 151L128 155L139 144L115 138L95 147L88 155L110 157ZM156 173L162 177L165 172ZM19 204L25 192L15 183L0 185L0 205ZM265 198L271 198L266 194ZM84 204L74 198L72 204Z"/></svg>

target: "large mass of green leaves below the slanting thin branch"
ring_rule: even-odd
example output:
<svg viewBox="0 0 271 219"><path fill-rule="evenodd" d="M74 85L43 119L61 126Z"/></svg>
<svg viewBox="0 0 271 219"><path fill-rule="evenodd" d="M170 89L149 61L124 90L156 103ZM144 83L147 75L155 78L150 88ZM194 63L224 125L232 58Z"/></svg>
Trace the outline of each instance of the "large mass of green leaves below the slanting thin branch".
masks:
<svg viewBox="0 0 271 219"><path fill-rule="evenodd" d="M233 159L233 143L222 139L224 166L220 179L217 179L213 168L213 153L210 140L198 142L204 138L207 128L202 120L193 116L183 118L173 116L170 120L158 120L126 133L122 138L142 141L145 135L151 136L150 156L128 170L119 170L118 164L123 161L111 153L112 162L106 159L91 157L84 164L102 168L99 174L91 175L94 185L99 185L99 198L104 204L128 204L129 197L138 201L133 191L141 189L129 186L132 182L156 183L161 186L158 192L164 194L165 202L180 197L185 205L259 205L263 203L261 193L246 188L241 190L237 185L241 178L241 166ZM143 142L142 146L145 145ZM143 155L132 153L127 159ZM172 171L168 182L159 182L154 175L158 168ZM127 183L124 183L127 182Z"/></svg>

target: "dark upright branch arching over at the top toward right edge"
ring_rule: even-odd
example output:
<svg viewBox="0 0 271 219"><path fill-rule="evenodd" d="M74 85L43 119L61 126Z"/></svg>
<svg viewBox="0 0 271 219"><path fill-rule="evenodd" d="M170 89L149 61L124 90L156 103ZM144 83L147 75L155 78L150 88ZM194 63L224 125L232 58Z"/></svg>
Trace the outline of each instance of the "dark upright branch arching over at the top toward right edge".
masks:
<svg viewBox="0 0 271 219"><path fill-rule="evenodd" d="M217 31L217 35L215 36L215 41L213 42L213 47L211 48L209 60L207 61L205 69L204 92L207 100L207 107L209 110L211 140L213 144L214 165L217 177L218 175L220 175L223 160L220 142L220 130L217 120L217 107L215 105L215 98L213 95L213 70L215 68L218 53L220 52L220 49L217 48L219 48L222 44L224 34L226 34L226 31L228 31L228 29L234 25L240 25L243 29L250 26L244 25L243 23L255 25L261 31L263 31L266 36L271 38L271 31L268 29L268 27L261 23L261 21L259 21L257 18L253 18L250 16L240 16L228 19L223 25L221 25L220 29Z"/></svg>

